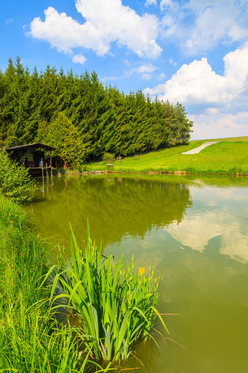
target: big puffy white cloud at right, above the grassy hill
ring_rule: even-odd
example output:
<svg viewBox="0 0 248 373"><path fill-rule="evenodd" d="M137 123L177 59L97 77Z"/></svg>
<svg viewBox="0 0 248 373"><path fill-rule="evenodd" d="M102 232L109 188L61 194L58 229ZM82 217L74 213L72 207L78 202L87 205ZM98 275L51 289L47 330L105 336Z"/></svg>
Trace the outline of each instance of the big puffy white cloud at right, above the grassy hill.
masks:
<svg viewBox="0 0 248 373"><path fill-rule="evenodd" d="M246 87L248 75L248 42L226 54L224 76L212 71L207 59L193 61L181 68L165 84L146 88L144 93L159 95L172 102L224 104L237 98ZM161 92L164 92L161 94Z"/></svg>

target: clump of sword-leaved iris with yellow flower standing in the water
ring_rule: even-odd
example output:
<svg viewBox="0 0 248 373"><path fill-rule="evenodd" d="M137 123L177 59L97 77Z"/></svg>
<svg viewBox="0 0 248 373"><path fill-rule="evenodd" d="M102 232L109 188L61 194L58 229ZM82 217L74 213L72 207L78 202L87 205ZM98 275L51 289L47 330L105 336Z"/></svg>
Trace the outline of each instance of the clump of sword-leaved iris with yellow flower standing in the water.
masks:
<svg viewBox="0 0 248 373"><path fill-rule="evenodd" d="M92 353L96 359L127 359L135 342L153 338L149 331L156 315L166 328L155 308L160 280L154 278L150 268L147 276L144 269L134 273L133 257L129 267L127 262L124 266L123 256L119 261L110 255L102 256L101 246L98 249L92 244L89 225L85 255L73 231L71 234L72 263L60 250L53 289L57 282L63 287L65 294L58 297L67 297L68 307L78 314L81 335L86 345L94 343Z"/></svg>

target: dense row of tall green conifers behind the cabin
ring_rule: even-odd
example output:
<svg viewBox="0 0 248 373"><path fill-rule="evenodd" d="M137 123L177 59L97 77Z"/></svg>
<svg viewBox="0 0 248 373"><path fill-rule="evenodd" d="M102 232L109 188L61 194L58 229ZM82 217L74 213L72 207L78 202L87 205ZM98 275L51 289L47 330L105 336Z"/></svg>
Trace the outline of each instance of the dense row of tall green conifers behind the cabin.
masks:
<svg viewBox="0 0 248 373"><path fill-rule="evenodd" d="M104 86L94 71L30 71L19 56L0 71L1 145L43 142L73 167L106 152L127 156L188 141L186 115L180 103Z"/></svg>

